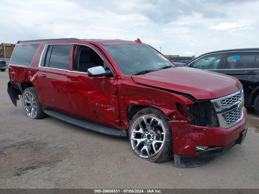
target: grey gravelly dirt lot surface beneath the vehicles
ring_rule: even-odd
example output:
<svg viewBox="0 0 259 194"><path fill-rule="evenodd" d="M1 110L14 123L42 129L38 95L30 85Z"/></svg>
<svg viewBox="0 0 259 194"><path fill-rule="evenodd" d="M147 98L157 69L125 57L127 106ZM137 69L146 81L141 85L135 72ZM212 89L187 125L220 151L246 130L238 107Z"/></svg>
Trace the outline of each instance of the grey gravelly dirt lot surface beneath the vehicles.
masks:
<svg viewBox="0 0 259 194"><path fill-rule="evenodd" d="M55 118L27 118L0 72L0 188L259 188L259 117L248 109L246 141L189 169L137 157L128 139Z"/></svg>

